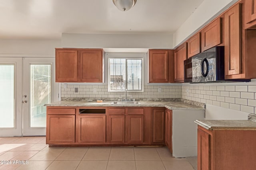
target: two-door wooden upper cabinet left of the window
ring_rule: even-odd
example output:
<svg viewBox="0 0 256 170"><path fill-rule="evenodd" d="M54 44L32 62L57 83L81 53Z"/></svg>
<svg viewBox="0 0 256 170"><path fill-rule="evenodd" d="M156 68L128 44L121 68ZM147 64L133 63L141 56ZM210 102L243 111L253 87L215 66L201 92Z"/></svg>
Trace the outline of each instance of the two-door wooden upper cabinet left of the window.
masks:
<svg viewBox="0 0 256 170"><path fill-rule="evenodd" d="M103 82L103 50L56 49L56 82Z"/></svg>

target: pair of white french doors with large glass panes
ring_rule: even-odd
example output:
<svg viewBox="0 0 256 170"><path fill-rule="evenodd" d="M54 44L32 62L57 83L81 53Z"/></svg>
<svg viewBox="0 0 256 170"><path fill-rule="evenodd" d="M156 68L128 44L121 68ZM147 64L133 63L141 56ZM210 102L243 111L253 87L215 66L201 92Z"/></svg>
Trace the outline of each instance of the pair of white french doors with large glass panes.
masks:
<svg viewBox="0 0 256 170"><path fill-rule="evenodd" d="M0 119L0 136L46 134L44 104L58 101L54 62L54 58L0 57L0 94L8 96L0 98L0 116L5 117Z"/></svg>

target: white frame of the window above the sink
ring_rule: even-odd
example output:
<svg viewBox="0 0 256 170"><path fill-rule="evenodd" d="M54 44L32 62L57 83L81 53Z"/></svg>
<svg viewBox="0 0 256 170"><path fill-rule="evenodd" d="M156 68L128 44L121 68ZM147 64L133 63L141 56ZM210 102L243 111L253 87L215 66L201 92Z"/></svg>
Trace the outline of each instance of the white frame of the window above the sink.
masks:
<svg viewBox="0 0 256 170"><path fill-rule="evenodd" d="M127 90L127 92L144 92L144 59L142 57L108 57L108 92L125 92L126 90L111 90L110 89L110 59L135 59L141 60L141 90ZM127 70L127 62L126 62L126 70ZM126 78L127 78L127 71L126 71ZM127 82L127 81L126 81ZM126 83L127 85L127 83ZM127 88L127 87L126 87Z"/></svg>

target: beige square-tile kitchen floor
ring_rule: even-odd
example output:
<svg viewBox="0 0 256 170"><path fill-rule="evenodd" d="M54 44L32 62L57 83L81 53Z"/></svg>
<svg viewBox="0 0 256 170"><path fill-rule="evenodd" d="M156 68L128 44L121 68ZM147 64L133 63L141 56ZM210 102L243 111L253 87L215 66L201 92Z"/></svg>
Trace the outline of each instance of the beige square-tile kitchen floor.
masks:
<svg viewBox="0 0 256 170"><path fill-rule="evenodd" d="M172 158L165 147L48 147L45 137L0 137L0 161L0 170L194 170L197 164L196 157Z"/></svg>

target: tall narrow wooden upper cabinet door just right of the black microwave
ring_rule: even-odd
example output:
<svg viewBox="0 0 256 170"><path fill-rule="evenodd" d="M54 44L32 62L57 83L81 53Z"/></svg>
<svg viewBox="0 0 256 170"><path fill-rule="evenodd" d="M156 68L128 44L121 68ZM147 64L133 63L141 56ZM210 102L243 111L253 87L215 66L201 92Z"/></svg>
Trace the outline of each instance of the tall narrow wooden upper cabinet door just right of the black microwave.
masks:
<svg viewBox="0 0 256 170"><path fill-rule="evenodd" d="M224 14L225 75L241 74L241 12L240 4Z"/></svg>

